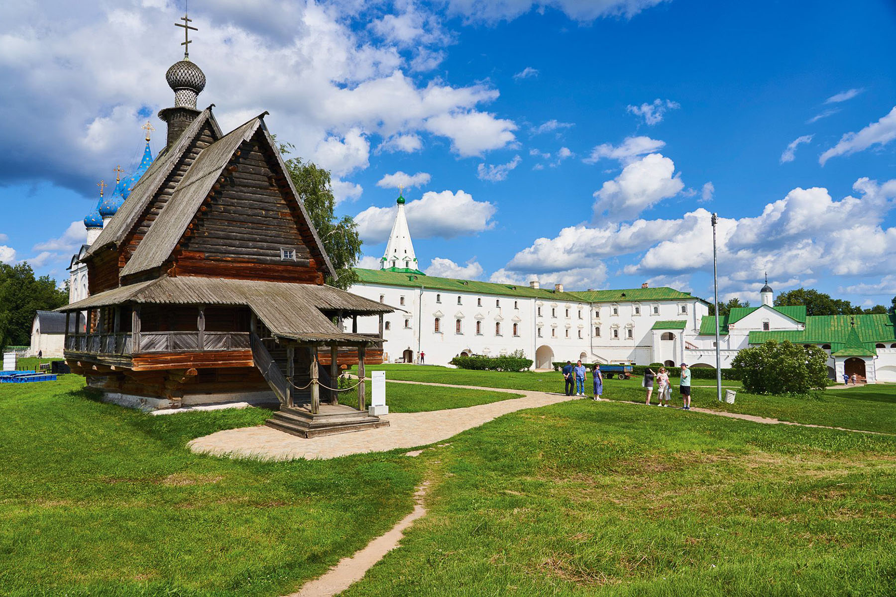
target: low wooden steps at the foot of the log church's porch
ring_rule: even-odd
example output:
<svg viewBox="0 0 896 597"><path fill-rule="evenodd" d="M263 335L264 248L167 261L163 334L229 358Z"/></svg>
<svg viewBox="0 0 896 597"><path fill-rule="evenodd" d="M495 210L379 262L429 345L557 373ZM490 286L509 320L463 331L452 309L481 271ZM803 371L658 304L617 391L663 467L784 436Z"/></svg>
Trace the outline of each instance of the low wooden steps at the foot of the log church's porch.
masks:
<svg viewBox="0 0 896 597"><path fill-rule="evenodd" d="M346 405L321 405L319 414L311 414L307 406L280 406L280 411L274 413L264 424L300 438L318 438L389 426L388 421Z"/></svg>

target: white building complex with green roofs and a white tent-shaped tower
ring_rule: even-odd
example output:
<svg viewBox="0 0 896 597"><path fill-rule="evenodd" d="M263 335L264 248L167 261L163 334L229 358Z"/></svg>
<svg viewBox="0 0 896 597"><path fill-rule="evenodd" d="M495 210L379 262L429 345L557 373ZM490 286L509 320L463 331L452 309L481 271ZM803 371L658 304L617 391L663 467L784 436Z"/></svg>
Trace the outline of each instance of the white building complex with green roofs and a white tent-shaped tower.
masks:
<svg viewBox="0 0 896 597"><path fill-rule="evenodd" d="M388 362L447 364L456 355L521 350L536 369L552 362L686 362L714 367L715 318L710 303L668 287L566 291L426 276L418 269L404 214L404 198L381 269L357 269L351 292L396 309L383 323ZM719 318L721 364L766 340L817 345L828 354L832 379L856 373L869 382L896 381L894 316L807 316L805 306L775 307L766 283L762 305L732 309ZM358 321L375 334L375 318Z"/></svg>

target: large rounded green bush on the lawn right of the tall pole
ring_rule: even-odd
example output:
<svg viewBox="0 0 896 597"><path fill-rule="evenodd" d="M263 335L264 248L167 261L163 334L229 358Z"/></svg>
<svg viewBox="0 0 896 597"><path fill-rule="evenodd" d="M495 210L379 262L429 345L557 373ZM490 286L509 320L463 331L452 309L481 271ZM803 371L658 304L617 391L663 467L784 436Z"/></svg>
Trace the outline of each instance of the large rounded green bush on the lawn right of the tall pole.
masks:
<svg viewBox="0 0 896 597"><path fill-rule="evenodd" d="M827 385L828 354L818 346L787 340L744 348L731 367L740 373L744 389L753 394L806 394Z"/></svg>

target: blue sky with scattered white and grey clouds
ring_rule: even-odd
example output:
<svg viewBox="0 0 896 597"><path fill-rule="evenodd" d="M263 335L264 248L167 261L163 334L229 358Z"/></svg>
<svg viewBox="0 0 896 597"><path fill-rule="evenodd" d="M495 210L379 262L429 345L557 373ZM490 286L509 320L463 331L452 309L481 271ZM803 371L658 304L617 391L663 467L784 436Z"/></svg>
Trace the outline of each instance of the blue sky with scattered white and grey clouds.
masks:
<svg viewBox="0 0 896 597"><path fill-rule="evenodd" d="M0 8L0 259L65 276L95 183L173 93L180 3ZM855 4L855 5L847 5ZM896 294L891 2L191 3L199 103L269 110L378 258L405 182L428 273L723 297ZM548 155L549 154L549 155ZM365 260L371 263L373 259Z"/></svg>

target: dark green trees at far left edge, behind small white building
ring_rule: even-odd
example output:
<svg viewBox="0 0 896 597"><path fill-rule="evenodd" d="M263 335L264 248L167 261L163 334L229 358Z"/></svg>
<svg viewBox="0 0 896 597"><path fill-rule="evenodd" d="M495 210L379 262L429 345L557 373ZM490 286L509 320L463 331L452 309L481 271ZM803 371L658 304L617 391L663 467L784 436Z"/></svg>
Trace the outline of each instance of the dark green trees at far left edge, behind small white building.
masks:
<svg viewBox="0 0 896 597"><path fill-rule="evenodd" d="M68 303L65 290L49 276L34 277L28 263L0 263L0 346L30 345L35 311Z"/></svg>

